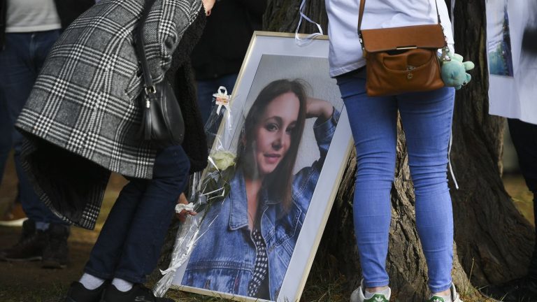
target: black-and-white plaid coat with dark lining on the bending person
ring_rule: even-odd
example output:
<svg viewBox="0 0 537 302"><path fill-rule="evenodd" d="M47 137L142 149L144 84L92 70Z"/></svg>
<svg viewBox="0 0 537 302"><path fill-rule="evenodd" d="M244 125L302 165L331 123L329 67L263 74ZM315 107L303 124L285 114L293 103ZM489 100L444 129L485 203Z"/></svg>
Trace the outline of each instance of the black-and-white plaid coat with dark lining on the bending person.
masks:
<svg viewBox="0 0 537 302"><path fill-rule="evenodd" d="M17 120L30 138L23 160L37 193L80 227L94 227L110 171L152 178L157 149L138 136L142 78L134 37L143 6L144 0L103 0L78 17L52 47ZM164 79L173 51L202 7L201 0L155 0L144 34L156 82ZM51 148L34 152L43 144ZM51 162L62 163L62 169ZM64 189L55 189L39 179L66 173L85 175L89 185L63 178Z"/></svg>

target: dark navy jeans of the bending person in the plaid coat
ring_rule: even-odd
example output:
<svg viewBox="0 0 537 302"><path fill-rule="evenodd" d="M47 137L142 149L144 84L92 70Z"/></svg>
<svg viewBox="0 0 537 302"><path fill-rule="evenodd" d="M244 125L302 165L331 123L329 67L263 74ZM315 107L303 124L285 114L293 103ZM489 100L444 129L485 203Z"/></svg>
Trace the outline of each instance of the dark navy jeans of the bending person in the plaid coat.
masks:
<svg viewBox="0 0 537 302"><path fill-rule="evenodd" d="M157 154L152 180L129 179L99 233L86 273L106 280L145 282L157 266L189 168L185 151L173 146Z"/></svg>

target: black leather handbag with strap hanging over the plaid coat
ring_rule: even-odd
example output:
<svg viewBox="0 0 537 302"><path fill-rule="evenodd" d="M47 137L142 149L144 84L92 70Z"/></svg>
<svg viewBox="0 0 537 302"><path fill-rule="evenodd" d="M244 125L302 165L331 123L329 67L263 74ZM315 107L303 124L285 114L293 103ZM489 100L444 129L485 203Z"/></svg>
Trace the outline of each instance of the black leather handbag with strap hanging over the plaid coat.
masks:
<svg viewBox="0 0 537 302"><path fill-rule="evenodd" d="M155 84L149 71L143 27L154 2L154 0L145 1L145 10L138 23L138 41L136 41L136 53L140 60L144 81L143 91L138 97L142 107L140 130L143 140L165 148L182 143L185 137L185 122L170 83L164 79Z"/></svg>

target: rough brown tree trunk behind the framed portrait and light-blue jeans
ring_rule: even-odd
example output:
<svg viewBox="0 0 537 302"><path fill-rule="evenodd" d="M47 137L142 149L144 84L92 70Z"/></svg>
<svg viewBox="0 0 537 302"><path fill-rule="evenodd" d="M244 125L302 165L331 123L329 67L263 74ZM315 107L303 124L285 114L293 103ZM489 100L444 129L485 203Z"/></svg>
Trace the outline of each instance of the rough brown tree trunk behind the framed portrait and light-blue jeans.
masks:
<svg viewBox="0 0 537 302"><path fill-rule="evenodd" d="M299 5L299 1L269 1L265 29L294 31ZM324 1L308 1L305 13L322 24L326 33ZM534 230L513 206L501 180L505 121L488 115L485 0L457 1L453 19L457 53L476 65L470 85L457 92L454 110L451 161L460 188L454 189L450 182L456 243L453 277L460 292L478 296L474 287L525 273ZM306 24L300 31L311 33L316 27ZM394 297L419 301L428 295L427 265L415 229L413 186L400 130L397 159L387 270ZM315 278L315 274L328 271L330 278L336 280L341 273L347 280L348 292L357 287L361 278L352 226L355 171L355 154L352 154L315 258L314 275L310 274L310 278Z"/></svg>

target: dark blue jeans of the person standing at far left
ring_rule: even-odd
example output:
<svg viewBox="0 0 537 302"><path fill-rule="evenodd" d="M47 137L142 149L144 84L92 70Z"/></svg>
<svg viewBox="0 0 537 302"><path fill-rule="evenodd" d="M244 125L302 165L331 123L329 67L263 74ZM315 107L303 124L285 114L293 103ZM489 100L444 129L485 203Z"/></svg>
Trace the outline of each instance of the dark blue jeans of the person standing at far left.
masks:
<svg viewBox="0 0 537 302"><path fill-rule="evenodd" d="M45 62L50 48L60 31L37 31L33 33L6 34L6 49L0 51L0 171L6 164L12 144L15 148L15 169L19 178L19 198L24 213L34 220L38 228L42 224L66 224L54 215L34 193L26 172L22 169L20 152L22 135L15 131L15 120L19 116L37 75ZM5 117L5 118L4 118Z"/></svg>

